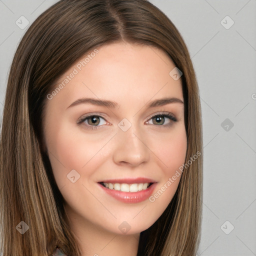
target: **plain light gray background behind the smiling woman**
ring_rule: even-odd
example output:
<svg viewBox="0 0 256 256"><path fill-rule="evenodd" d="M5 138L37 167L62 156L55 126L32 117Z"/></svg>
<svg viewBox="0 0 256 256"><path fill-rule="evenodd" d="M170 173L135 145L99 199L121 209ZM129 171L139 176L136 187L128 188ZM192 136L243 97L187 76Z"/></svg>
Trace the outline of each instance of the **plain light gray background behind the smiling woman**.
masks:
<svg viewBox="0 0 256 256"><path fill-rule="evenodd" d="M256 255L256 0L150 1L180 31L200 90L204 169L198 255ZM55 2L0 0L0 114L18 42ZM24 29L15 24L22 15L29 21Z"/></svg>

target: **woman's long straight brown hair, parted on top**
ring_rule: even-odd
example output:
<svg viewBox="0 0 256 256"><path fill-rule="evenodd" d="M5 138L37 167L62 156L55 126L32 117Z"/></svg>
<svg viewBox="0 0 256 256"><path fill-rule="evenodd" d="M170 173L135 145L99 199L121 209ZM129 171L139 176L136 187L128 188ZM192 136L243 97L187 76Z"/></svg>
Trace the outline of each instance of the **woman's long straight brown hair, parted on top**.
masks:
<svg viewBox="0 0 256 256"><path fill-rule="evenodd" d="M69 256L81 255L42 149L44 103L56 79L81 56L120 40L158 47L182 71L185 162L196 152L201 154L187 164L162 215L140 233L137 255L196 254L202 199L201 110L194 69L180 33L147 0L60 0L28 28L9 73L0 138L2 256L46 256L56 246ZM17 231L17 225L26 227L20 221L29 227L23 234Z"/></svg>

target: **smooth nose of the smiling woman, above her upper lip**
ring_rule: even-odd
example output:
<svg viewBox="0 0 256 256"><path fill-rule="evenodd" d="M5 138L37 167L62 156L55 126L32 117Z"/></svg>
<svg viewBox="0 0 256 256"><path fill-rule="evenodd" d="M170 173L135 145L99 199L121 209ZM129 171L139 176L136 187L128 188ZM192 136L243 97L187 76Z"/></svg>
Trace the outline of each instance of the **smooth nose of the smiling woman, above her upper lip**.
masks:
<svg viewBox="0 0 256 256"><path fill-rule="evenodd" d="M134 167L149 161L150 149L146 137L134 125L126 131L118 130L114 143L113 161L116 164Z"/></svg>

